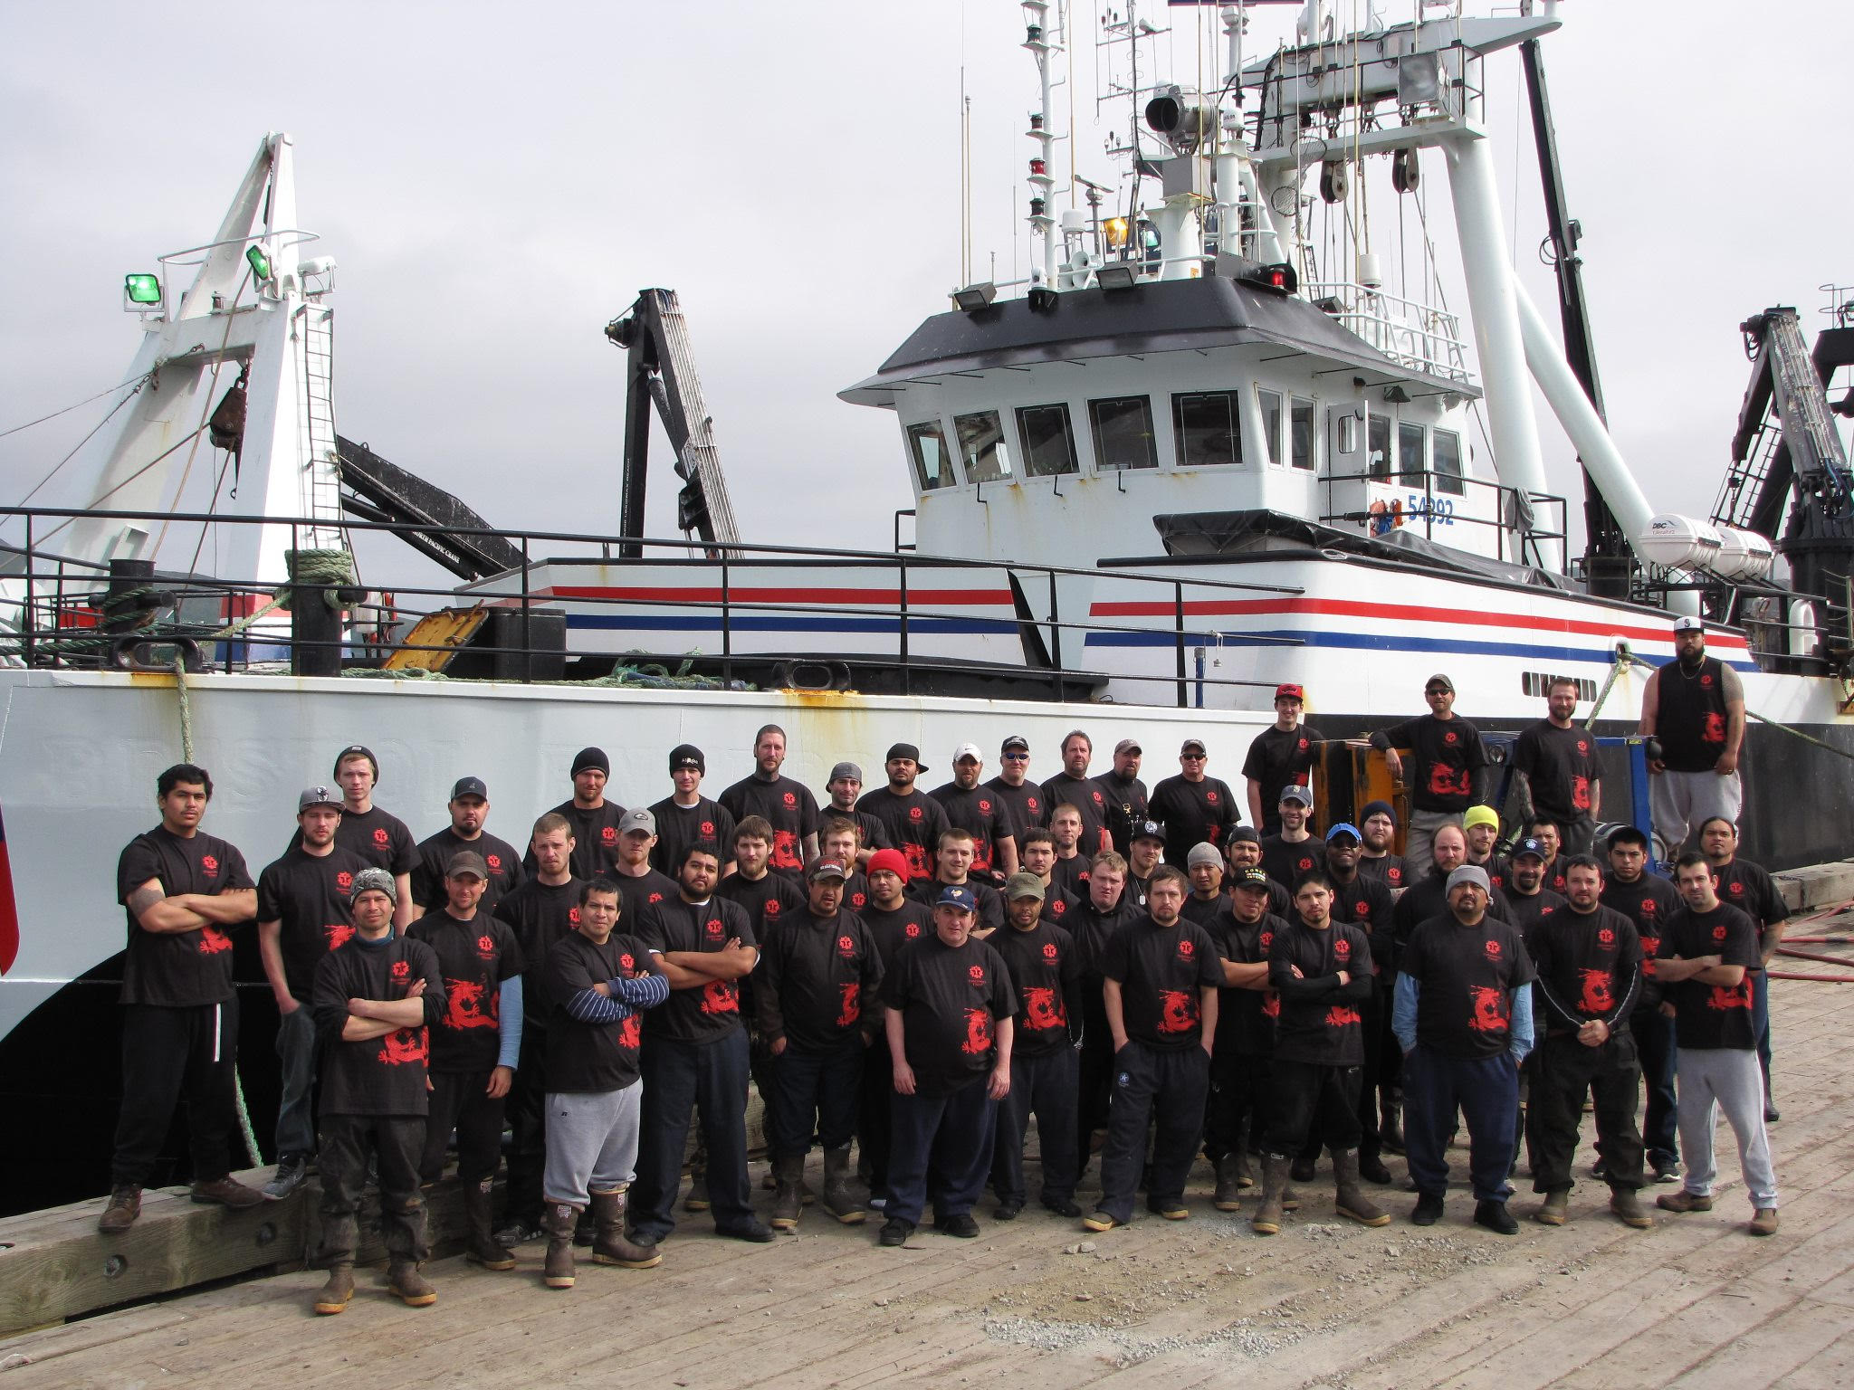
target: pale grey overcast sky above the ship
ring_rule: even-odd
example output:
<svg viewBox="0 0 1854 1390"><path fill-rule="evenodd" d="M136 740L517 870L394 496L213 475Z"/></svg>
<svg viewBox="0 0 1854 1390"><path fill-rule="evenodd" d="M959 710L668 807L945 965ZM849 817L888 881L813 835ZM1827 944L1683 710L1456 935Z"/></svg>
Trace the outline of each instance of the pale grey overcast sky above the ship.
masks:
<svg viewBox="0 0 1854 1390"><path fill-rule="evenodd" d="M1079 9L1075 102L1092 120ZM1174 26L1174 59L1194 69L1190 11L1142 13ZM1854 280L1850 7L1561 13L1546 63L1611 428L1654 506L1708 512L1745 387L1737 322L1797 304L1813 337L1817 285ZM1263 11L1251 50L1283 26ZM959 282L962 65L979 272L990 250L1001 278L1027 254L1020 41L1020 7L994 0L0 0L0 428L122 380L137 347L122 274L210 239L260 137L287 130L300 221L324 237L311 254L341 265L343 434L491 523L616 530L623 356L601 330L667 285L743 534L883 543L908 504L899 430L834 393ZM1556 321L1537 172L1511 141L1517 59L1489 87L1515 259ZM1075 148L1112 182L1099 128ZM1441 161L1426 172L1444 183ZM95 419L0 439L0 493L24 493ZM1548 454L1576 493L1568 450ZM651 530L667 536L660 458Z"/></svg>

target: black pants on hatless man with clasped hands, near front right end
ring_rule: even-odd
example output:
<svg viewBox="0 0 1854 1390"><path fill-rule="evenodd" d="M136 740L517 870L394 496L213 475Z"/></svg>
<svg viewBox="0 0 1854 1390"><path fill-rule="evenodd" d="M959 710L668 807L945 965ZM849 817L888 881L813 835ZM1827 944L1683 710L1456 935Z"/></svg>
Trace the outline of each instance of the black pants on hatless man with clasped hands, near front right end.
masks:
<svg viewBox="0 0 1854 1390"><path fill-rule="evenodd" d="M1531 1086L1526 1093L1526 1145L1531 1151L1531 1190L1570 1190L1585 1093L1596 1112L1596 1144L1609 1171L1609 1186L1639 1188L1643 1144L1635 1127L1635 1105L1641 1099L1641 1066L1630 1032L1624 1029L1602 1047L1585 1047L1572 1032L1554 1034L1528 1060Z"/></svg>

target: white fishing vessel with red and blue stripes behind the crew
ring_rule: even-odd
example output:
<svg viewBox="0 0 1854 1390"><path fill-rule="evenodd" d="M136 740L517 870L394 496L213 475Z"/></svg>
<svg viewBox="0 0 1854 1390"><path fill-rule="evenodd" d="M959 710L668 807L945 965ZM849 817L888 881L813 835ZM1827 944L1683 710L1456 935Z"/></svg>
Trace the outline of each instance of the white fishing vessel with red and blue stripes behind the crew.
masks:
<svg viewBox="0 0 1854 1390"><path fill-rule="evenodd" d="M100 1188L124 932L109 864L184 751L217 780L211 828L256 871L293 793L354 741L419 836L469 773L491 828L519 838L588 743L627 804L667 793L682 741L706 751L712 793L749 771L764 723L814 788L895 739L938 762L1007 734L1042 778L1077 725L1140 739L1161 777L1203 738L1235 778L1283 680L1350 736L1413 714L1437 669L1487 730L1537 719L1572 676L1594 730L1628 734L1672 617L1704 613L1759 715L1745 853L1845 854L1847 298L1813 347L1795 310L1745 321L1752 384L1717 495L1656 510L1604 424L1541 57L1556 9L1418 4L1353 30L1307 0L1268 43L1263 6L1207 9L1220 76L1201 85L1148 76L1162 28L1138 7L1101 19L1103 100L1125 109L1107 183L1079 171L1053 95L1073 11L1022 6L1031 265L996 280L968 263L840 393L892 411L914 493L860 549L742 534L667 291L606 324L630 402L617 536L501 530L337 434L337 267L298 224L291 139L267 135L215 235L128 276L143 343L119 398L4 513L0 1088L24 1132L57 1136L7 1156L26 1169L9 1188ZM1487 69L1515 52L1557 332L1509 267L1492 172ZM1574 502L1550 491L1535 391L1583 465ZM680 537L643 536L653 410ZM210 502L182 510L195 467ZM363 586L356 547L389 537L449 578ZM1622 751L1611 771L1628 782ZM241 949L261 1118L274 1019Z"/></svg>

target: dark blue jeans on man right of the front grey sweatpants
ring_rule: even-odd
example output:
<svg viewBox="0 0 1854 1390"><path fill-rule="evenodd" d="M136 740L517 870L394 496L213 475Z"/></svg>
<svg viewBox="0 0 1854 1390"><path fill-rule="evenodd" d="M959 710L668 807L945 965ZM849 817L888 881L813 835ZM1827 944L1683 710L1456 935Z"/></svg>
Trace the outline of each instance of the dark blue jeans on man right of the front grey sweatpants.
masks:
<svg viewBox="0 0 1854 1390"><path fill-rule="evenodd" d="M753 1221L747 1194L747 1030L714 1042L643 1040L643 1132L638 1181L630 1184L630 1225L662 1240L677 1229L677 1190L688 1151L690 1118L701 1112L708 1147L708 1201L714 1229Z"/></svg>

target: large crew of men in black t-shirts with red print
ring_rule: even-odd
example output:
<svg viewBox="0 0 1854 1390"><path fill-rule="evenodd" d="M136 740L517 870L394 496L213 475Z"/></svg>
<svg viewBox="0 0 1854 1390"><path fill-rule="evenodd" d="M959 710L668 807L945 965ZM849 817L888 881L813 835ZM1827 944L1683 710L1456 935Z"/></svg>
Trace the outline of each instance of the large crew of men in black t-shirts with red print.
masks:
<svg viewBox="0 0 1854 1390"><path fill-rule="evenodd" d="M1023 738L1003 741L988 780L964 743L931 793L916 786L920 749L897 743L884 786L864 791L862 769L840 762L819 804L784 777L784 732L768 725L755 771L719 799L703 795L693 745L669 752L671 795L630 810L604 795L606 754L580 751L573 795L525 849L484 828L475 777L454 784L449 827L413 841L373 804L378 760L354 745L334 788L300 793L297 834L254 882L235 847L200 830L208 773L171 767L161 825L119 866L124 1105L100 1229L133 1223L184 1097L195 1201L282 1199L319 1169L324 1314L352 1297L369 1169L389 1288L408 1305L436 1299L421 1190L452 1147L469 1257L510 1270L512 1247L545 1234L543 1281L569 1288L577 1244L604 1264L662 1260L692 1127L682 1208L749 1242L795 1229L812 1199L844 1223L879 1212L884 1245L905 1244L929 1205L938 1231L977 1234L986 1186L1012 1219L1029 1197L1033 1118L1046 1208L1107 1231L1144 1192L1149 1210L1185 1219L1201 1147L1220 1210L1240 1208L1261 1158L1261 1234L1298 1207L1290 1182L1311 1181L1322 1147L1337 1210L1366 1225L1390 1218L1363 1184L1390 1182L1383 1153L1407 1149L1413 1219L1433 1223L1465 1119L1474 1219L1511 1232L1524 1082L1539 1221L1567 1218L1589 1093L1598 1173L1624 1223L1650 1223L1635 1194L1650 1169L1678 1177L1680 1149L1685 1186L1659 1205L1711 1205L1722 1106L1750 1229L1774 1231L1763 1125L1776 1116L1758 1047L1782 903L1735 860L1732 817L1700 825L1704 853L1680 856L1674 884L1646 871L1635 828L1593 858L1594 741L1570 723L1574 684L1559 682L1513 756L1531 834L1500 856L1479 736L1454 715L1446 676L1426 697L1429 715L1370 738L1411 790L1403 856L1389 802L1314 830L1320 739L1298 686L1277 689L1276 725L1242 769L1266 834L1240 823L1198 738L1149 793L1137 739L1090 777L1092 741L1075 730L1042 784ZM1667 721L1693 710L1663 697L1657 714L1667 767L1683 771ZM226 932L248 921L282 1016L278 1164L263 1190L226 1162ZM769 1221L747 1171L749 1084L764 1101ZM1085 1216L1075 1194L1096 1144L1101 1195Z"/></svg>

